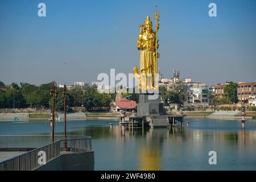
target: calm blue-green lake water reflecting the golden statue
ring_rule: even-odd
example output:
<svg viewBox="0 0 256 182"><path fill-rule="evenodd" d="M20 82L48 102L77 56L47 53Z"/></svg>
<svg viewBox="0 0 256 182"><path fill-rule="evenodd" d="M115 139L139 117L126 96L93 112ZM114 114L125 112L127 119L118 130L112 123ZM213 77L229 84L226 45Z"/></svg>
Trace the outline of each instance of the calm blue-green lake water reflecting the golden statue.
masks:
<svg viewBox="0 0 256 182"><path fill-rule="evenodd" d="M95 170L255 170L256 121L185 119L184 129L123 132L116 121L71 121L68 134L92 137ZM110 129L109 123L114 123ZM56 122L55 134L63 134ZM0 135L51 134L49 122L0 122ZM210 165L209 151L217 152Z"/></svg>

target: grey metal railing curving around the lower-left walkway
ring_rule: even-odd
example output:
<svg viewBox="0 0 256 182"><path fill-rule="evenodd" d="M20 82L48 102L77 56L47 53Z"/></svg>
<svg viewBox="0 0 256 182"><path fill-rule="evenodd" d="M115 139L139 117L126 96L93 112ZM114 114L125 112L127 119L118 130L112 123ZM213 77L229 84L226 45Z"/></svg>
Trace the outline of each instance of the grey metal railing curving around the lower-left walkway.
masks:
<svg viewBox="0 0 256 182"><path fill-rule="evenodd" d="M35 138L34 138L35 137ZM0 148L36 148L34 150L28 151L25 154L21 154L18 156L15 156L14 158L4 160L0 162L0 171L31 171L42 164L39 162L39 151L46 152L46 163L49 162L49 160L52 160L56 158L57 156L63 155L63 154L81 154L85 152L92 151L92 138L86 137L86 136L76 136L76 135L67 135L67 139L64 139L64 135L55 135L55 137L59 137L60 139L56 142L44 144L43 147L38 147L38 144L36 144L36 140L38 140L39 143L42 143L46 141L46 139L49 141L51 136L50 135L26 135L26 136L0 136ZM34 139L33 139L34 138ZM55 140L56 140L55 138ZM16 144L18 144L18 147L15 146L15 144L9 144L5 142L11 142L16 140ZM42 140L40 140L42 139ZM23 144L19 144L18 142L24 142ZM30 143L32 142L32 143ZM2 147L2 145L4 146ZM28 144L28 146L26 146ZM36 144L36 146L32 147L33 144ZM41 145L42 146L42 145Z"/></svg>

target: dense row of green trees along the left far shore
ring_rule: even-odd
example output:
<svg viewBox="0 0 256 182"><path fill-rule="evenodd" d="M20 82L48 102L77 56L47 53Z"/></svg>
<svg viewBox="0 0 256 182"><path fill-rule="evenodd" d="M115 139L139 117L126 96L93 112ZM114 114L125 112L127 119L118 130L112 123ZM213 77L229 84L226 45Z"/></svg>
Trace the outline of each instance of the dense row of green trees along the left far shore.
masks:
<svg viewBox="0 0 256 182"><path fill-rule="evenodd" d="M16 83L5 85L0 81L0 108L25 108L25 107L44 107L52 106L52 98L49 91L51 82L42 85L28 83ZM57 98L55 99L56 110L64 109L63 88L57 88ZM99 93L97 85L85 84L84 86L73 86L68 90L68 107L85 107L86 110L101 110L103 107L109 107L114 94Z"/></svg>

